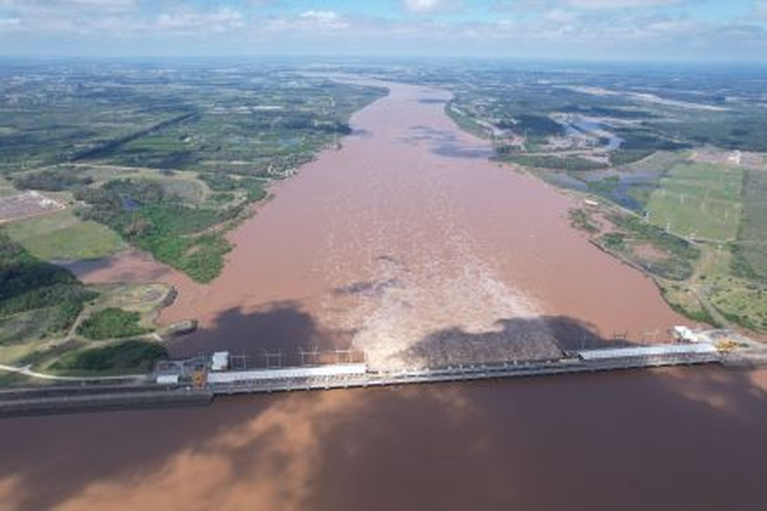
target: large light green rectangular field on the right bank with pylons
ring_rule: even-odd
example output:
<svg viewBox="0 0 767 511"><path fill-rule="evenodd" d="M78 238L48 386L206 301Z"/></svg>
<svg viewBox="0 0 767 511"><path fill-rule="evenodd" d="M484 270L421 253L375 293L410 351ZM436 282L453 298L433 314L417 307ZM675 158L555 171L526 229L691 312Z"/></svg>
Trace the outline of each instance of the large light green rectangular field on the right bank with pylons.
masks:
<svg viewBox="0 0 767 511"><path fill-rule="evenodd" d="M742 212L743 170L709 163L673 166L650 196L650 222L678 236L736 239Z"/></svg>

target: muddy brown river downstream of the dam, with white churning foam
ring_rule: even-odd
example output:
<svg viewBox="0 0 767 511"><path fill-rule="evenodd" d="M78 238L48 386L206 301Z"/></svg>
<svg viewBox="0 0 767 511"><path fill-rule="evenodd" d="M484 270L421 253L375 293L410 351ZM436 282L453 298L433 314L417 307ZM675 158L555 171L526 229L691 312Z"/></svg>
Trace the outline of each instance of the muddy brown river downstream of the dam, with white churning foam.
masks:
<svg viewBox="0 0 767 511"><path fill-rule="evenodd" d="M655 341L684 322L653 282L571 229L574 199L489 162L489 144L446 116L448 93L387 87L341 150L275 186L232 232L212 284L137 255L78 275L173 283L163 321L201 326L173 354L229 349L252 364L304 346L351 346L380 367L546 358L556 341Z"/></svg>

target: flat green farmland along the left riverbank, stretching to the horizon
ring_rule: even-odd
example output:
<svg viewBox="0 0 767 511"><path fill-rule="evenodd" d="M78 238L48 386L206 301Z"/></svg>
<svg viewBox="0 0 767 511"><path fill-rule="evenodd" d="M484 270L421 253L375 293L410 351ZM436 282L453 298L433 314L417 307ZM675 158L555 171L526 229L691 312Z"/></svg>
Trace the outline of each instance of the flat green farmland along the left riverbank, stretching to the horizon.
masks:
<svg viewBox="0 0 767 511"><path fill-rule="evenodd" d="M2 194L15 186L77 199L76 217L19 220L11 236L47 260L103 257L133 244L199 282L221 271L231 249L222 234L251 213L249 203L336 147L348 117L384 94L284 64L2 71ZM154 185L159 195L137 194ZM183 226L168 224L179 220Z"/></svg>

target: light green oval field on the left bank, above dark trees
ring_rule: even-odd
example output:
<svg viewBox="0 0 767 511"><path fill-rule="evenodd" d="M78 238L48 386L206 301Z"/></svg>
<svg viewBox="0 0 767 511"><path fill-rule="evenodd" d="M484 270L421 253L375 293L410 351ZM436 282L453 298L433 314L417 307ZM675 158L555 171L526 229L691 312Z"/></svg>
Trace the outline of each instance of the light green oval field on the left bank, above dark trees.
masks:
<svg viewBox="0 0 767 511"><path fill-rule="evenodd" d="M117 232L78 219L69 210L10 223L6 230L31 255L46 261L99 259L126 246Z"/></svg>

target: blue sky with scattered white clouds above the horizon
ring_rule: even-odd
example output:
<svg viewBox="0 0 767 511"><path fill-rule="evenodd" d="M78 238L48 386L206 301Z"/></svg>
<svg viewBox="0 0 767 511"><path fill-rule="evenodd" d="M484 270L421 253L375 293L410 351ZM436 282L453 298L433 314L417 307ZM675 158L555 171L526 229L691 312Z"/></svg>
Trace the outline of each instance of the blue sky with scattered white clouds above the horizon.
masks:
<svg viewBox="0 0 767 511"><path fill-rule="evenodd" d="M0 54L767 61L767 0L0 0Z"/></svg>

